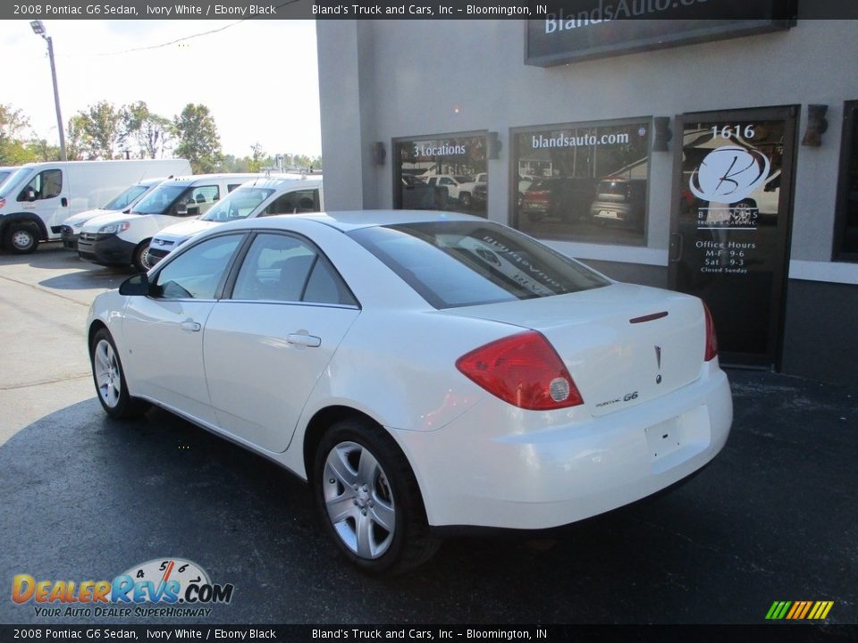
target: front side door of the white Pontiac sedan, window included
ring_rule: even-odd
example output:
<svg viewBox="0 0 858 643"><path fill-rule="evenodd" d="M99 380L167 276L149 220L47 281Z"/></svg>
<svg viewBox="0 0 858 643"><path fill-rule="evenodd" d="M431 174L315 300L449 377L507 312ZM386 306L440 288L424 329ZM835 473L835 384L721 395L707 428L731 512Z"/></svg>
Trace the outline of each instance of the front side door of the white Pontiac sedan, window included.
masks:
<svg viewBox="0 0 858 643"><path fill-rule="evenodd" d="M203 369L206 320L243 234L208 238L156 272L156 296L129 298L122 360L135 395L215 423Z"/></svg>

